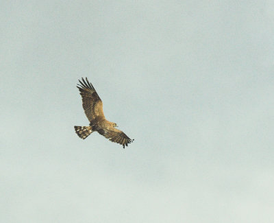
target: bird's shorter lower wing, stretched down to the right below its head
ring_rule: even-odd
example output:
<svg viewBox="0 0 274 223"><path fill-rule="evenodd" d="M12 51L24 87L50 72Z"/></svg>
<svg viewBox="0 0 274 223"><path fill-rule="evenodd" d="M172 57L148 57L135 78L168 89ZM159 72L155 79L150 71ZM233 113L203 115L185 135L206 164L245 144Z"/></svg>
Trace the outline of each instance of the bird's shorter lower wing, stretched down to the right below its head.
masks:
<svg viewBox="0 0 274 223"><path fill-rule="evenodd" d="M127 137L127 135L124 132L116 128L104 128L98 130L98 132L110 141L123 145L123 148L125 148L125 145L127 146L127 144L132 143L132 141L134 141L134 139L129 139L129 137Z"/></svg>

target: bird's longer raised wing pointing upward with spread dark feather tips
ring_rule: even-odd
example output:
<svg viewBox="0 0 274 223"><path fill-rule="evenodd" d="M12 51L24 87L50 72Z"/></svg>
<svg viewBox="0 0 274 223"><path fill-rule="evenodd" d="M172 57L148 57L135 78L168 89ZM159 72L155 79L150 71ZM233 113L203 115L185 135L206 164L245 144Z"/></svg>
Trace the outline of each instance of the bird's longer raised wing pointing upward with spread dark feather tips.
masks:
<svg viewBox="0 0 274 223"><path fill-rule="evenodd" d="M98 116L105 118L105 115L103 115L103 102L95 88L88 82L88 78L86 78L86 81L82 78L82 81L79 80L79 82L80 84L77 84L77 88L82 96L83 108L88 121L92 121Z"/></svg>

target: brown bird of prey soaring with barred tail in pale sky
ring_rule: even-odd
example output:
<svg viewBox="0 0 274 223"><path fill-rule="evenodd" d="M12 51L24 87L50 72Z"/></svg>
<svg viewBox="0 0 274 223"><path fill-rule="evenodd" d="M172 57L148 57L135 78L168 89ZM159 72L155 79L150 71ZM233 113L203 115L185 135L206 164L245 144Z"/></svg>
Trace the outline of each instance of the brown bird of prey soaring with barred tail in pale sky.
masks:
<svg viewBox="0 0 274 223"><path fill-rule="evenodd" d="M129 139L127 135L121 130L116 129L118 127L116 123L108 121L103 115L103 102L97 94L94 86L88 82L88 78L77 84L77 88L82 96L82 104L86 117L90 121L89 126L74 126L75 132L81 139L86 139L92 132L99 132L103 137L109 139L114 143L125 145L132 143L134 139Z"/></svg>

